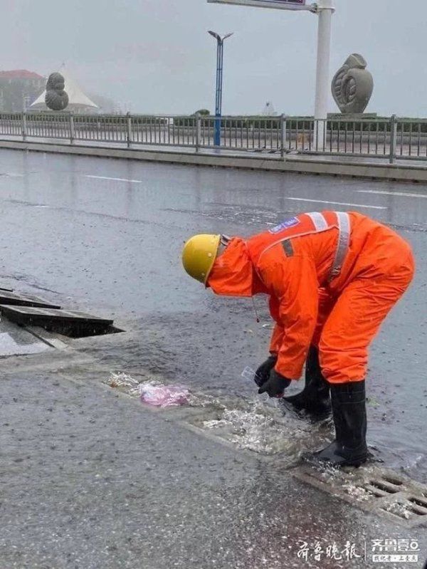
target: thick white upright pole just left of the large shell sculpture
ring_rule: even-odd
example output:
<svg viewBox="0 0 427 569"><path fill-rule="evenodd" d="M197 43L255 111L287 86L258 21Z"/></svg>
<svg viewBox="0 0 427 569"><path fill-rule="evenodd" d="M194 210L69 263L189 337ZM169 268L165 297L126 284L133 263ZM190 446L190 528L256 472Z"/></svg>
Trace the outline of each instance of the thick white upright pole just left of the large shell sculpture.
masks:
<svg viewBox="0 0 427 569"><path fill-rule="evenodd" d="M325 136L325 120L327 118L327 102L330 90L330 53L332 14L334 0L318 0L317 14L317 70L315 95L315 149L322 150ZM317 122L316 122L317 120Z"/></svg>

